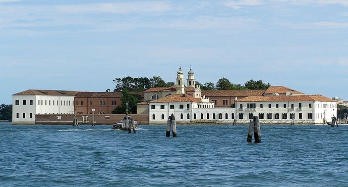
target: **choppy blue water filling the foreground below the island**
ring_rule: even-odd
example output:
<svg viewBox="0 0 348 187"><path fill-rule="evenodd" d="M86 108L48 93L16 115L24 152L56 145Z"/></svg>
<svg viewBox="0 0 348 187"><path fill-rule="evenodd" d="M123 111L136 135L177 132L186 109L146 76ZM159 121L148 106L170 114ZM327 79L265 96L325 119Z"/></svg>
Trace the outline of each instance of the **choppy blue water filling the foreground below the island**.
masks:
<svg viewBox="0 0 348 187"><path fill-rule="evenodd" d="M0 186L348 186L348 125L0 123Z"/></svg>

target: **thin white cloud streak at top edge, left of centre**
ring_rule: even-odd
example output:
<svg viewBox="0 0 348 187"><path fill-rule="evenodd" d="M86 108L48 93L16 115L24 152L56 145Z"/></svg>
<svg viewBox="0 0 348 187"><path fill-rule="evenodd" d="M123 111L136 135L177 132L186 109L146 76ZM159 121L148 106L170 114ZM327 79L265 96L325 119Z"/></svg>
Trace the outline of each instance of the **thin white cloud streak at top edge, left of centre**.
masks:
<svg viewBox="0 0 348 187"><path fill-rule="evenodd" d="M148 12L166 12L174 8L166 2L131 2L131 3L99 3L84 5L64 5L56 8L68 13L113 13L131 14Z"/></svg>

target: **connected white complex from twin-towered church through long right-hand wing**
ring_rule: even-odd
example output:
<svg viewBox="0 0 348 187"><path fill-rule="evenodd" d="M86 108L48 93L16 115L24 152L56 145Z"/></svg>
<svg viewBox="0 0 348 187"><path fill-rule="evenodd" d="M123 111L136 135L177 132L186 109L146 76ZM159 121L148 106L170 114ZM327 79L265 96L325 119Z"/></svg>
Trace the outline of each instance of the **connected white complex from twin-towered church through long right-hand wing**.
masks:
<svg viewBox="0 0 348 187"><path fill-rule="evenodd" d="M151 88L145 92L151 100L139 103L138 112L149 114L150 124L164 124L173 114L180 123L249 123L257 115L261 123L325 123L337 117L337 101L321 95L304 93L284 86L271 86L262 96L248 96L235 99L235 108L215 108L215 101L205 96L195 86L192 69L188 73L188 86L184 84L184 74L180 67L177 85L164 89L159 96ZM176 88L176 94L173 94ZM158 97L158 99L156 99ZM150 97L148 96L148 99Z"/></svg>

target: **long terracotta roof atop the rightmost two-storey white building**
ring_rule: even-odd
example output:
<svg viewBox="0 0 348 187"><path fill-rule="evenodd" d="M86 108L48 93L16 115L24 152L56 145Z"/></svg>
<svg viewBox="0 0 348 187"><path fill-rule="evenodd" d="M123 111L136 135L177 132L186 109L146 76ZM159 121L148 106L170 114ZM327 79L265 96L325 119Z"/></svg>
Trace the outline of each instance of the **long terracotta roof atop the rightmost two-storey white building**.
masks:
<svg viewBox="0 0 348 187"><path fill-rule="evenodd" d="M337 102L322 95L302 95L302 96L249 96L237 102L277 102L277 101L326 101Z"/></svg>

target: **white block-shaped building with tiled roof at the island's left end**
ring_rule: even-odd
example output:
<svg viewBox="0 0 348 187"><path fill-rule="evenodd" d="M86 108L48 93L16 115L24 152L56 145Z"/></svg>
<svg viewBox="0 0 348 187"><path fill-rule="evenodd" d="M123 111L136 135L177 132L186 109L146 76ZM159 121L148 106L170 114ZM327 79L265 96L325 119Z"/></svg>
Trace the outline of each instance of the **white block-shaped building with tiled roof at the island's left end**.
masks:
<svg viewBox="0 0 348 187"><path fill-rule="evenodd" d="M78 91L29 89L12 96L12 123L35 124L36 114L74 114Z"/></svg>

